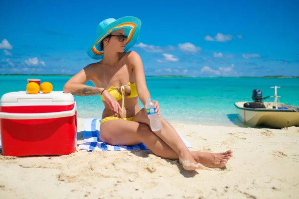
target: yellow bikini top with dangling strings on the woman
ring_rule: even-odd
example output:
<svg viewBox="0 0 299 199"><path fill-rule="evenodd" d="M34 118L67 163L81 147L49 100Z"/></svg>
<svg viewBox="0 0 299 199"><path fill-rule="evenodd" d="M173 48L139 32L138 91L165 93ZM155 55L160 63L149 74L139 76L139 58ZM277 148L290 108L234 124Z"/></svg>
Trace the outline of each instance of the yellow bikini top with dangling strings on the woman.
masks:
<svg viewBox="0 0 299 199"><path fill-rule="evenodd" d="M125 97L125 87L127 86L130 86L131 88L131 94L130 96L126 96ZM121 93L120 94L116 89L117 88L121 88ZM128 84L126 85L123 85L121 87L114 87L114 86L111 86L109 89L107 89L107 91L118 101L118 100L123 100L122 102L122 115L123 115L123 118L124 118L124 101L125 101L125 98L136 98L138 97L138 93L137 93L137 89L136 89L136 84L135 83L131 83L129 82ZM103 96L101 96L101 99L103 101L105 101L105 98Z"/></svg>

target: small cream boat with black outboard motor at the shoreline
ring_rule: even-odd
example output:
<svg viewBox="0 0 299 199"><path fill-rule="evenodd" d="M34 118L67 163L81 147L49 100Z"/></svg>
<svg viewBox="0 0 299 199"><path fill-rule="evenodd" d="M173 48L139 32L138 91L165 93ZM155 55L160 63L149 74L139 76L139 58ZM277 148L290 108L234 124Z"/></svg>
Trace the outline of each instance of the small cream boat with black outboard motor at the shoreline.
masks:
<svg viewBox="0 0 299 199"><path fill-rule="evenodd" d="M271 128L285 128L299 126L299 107L277 102L280 96L275 89L274 102L263 102L270 96L263 98L261 90L253 90L251 101L239 101L234 103L238 118L249 126L268 126Z"/></svg>

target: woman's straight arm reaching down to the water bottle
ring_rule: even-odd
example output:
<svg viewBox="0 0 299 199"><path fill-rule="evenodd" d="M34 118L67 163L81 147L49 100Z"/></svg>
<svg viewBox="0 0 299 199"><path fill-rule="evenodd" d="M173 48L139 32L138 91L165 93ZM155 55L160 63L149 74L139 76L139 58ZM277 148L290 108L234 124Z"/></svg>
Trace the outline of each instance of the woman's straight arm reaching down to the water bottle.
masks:
<svg viewBox="0 0 299 199"><path fill-rule="evenodd" d="M139 54L135 51L130 52L127 58L128 66L133 68L133 76L136 81L136 88L141 102L146 105L147 99L150 98L149 90L146 83L146 77L143 69L143 63Z"/></svg>

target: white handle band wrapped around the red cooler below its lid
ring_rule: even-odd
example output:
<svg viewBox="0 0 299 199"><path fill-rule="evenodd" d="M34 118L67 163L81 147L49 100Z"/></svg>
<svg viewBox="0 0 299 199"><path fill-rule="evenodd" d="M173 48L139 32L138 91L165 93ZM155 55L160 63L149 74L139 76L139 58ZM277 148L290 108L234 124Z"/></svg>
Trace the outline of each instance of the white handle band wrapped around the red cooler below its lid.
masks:
<svg viewBox="0 0 299 199"><path fill-rule="evenodd" d="M0 112L1 119L51 119L59 117L73 116L77 110L77 104L75 102L72 110L61 112L46 112L46 113L10 113Z"/></svg>

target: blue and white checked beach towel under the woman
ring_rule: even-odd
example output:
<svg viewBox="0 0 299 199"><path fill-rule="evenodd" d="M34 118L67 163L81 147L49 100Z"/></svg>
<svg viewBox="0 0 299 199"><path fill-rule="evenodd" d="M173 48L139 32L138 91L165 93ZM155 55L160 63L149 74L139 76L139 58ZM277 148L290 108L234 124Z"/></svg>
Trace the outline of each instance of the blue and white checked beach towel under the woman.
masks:
<svg viewBox="0 0 299 199"><path fill-rule="evenodd" d="M101 119L86 119L83 126L83 144L78 146L83 151L127 151L127 150L146 150L149 149L145 144L140 143L134 146L109 145L100 139ZM191 144L180 134L179 136L188 148Z"/></svg>

